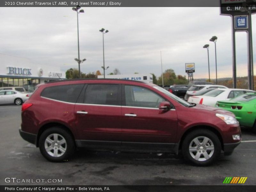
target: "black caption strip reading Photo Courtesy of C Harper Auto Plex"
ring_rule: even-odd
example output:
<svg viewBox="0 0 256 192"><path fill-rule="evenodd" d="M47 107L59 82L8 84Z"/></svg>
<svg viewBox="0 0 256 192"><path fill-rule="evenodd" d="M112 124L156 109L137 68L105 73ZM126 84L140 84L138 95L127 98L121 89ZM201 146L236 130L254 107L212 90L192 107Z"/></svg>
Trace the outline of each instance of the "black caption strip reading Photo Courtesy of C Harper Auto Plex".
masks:
<svg viewBox="0 0 256 192"><path fill-rule="evenodd" d="M1 192L82 192L82 191L92 191L92 192L210 192L210 191L222 191L222 192L252 192L255 191L255 186L241 186L241 184L223 184L218 186L189 186L189 185L179 185L179 186L151 186L151 185L139 185L139 186L78 186L78 185L56 185L56 186L36 186L36 185L20 185L20 186L4 186L0 187Z"/></svg>

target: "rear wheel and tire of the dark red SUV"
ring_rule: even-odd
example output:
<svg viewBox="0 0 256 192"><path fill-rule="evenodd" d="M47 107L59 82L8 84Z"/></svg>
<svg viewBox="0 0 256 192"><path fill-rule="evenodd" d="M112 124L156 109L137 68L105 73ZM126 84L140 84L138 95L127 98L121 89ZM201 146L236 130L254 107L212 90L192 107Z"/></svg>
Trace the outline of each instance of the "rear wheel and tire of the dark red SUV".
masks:
<svg viewBox="0 0 256 192"><path fill-rule="evenodd" d="M60 127L51 127L46 129L40 136L39 148L41 154L47 160L52 162L65 162L68 161L69 157L74 153L75 143L69 132ZM49 149L48 152L46 148Z"/></svg>

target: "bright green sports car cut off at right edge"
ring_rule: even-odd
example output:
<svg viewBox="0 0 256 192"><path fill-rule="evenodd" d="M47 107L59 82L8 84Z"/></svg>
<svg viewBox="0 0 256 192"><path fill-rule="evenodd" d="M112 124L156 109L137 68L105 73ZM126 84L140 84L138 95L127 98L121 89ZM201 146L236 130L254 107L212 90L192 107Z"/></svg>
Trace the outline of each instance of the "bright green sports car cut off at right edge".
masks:
<svg viewBox="0 0 256 192"><path fill-rule="evenodd" d="M217 101L216 107L233 112L241 126L256 133L256 93L247 93L231 100Z"/></svg>

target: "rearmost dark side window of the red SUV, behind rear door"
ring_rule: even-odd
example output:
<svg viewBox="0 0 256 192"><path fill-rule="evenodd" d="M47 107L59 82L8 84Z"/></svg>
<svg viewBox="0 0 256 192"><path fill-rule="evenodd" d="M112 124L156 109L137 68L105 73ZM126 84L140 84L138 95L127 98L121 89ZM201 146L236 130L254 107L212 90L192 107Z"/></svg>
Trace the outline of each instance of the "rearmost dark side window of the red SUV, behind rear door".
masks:
<svg viewBox="0 0 256 192"><path fill-rule="evenodd" d="M84 84L59 85L45 88L41 96L54 100L75 103Z"/></svg>

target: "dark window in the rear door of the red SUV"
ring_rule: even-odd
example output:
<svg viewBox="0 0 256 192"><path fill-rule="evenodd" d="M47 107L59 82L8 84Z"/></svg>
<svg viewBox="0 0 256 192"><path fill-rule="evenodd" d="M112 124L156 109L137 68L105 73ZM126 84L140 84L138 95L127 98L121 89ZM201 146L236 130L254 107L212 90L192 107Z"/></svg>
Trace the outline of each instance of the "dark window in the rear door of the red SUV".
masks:
<svg viewBox="0 0 256 192"><path fill-rule="evenodd" d="M84 94L84 103L98 105L120 105L118 100L119 85L88 84Z"/></svg>

